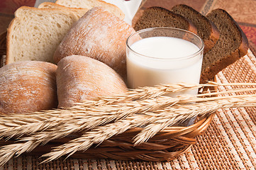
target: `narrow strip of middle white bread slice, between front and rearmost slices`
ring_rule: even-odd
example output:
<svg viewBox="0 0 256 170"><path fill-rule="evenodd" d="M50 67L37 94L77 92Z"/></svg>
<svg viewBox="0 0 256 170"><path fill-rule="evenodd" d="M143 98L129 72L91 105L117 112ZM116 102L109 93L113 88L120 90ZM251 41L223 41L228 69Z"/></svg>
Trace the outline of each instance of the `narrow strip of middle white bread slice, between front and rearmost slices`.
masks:
<svg viewBox="0 0 256 170"><path fill-rule="evenodd" d="M38 8L58 8L58 9L67 10L67 11L70 10L78 18L81 18L82 16L84 16L84 13L87 13L87 11L89 11L89 8L69 8L69 7L62 6L62 5L59 5L59 4L55 4L55 3L52 3L52 2L43 2L42 4L40 4L38 6Z"/></svg>

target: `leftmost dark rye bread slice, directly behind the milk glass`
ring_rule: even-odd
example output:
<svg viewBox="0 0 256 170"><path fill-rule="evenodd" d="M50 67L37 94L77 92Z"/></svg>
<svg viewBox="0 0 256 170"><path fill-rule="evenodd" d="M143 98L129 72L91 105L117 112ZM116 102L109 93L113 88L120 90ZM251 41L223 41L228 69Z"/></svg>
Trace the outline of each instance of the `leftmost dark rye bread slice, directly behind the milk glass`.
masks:
<svg viewBox="0 0 256 170"><path fill-rule="evenodd" d="M145 28L153 27L181 28L189 30L192 33L197 33L197 29L191 21L159 6L152 6L145 9L142 16L136 21L134 29L143 30Z"/></svg>

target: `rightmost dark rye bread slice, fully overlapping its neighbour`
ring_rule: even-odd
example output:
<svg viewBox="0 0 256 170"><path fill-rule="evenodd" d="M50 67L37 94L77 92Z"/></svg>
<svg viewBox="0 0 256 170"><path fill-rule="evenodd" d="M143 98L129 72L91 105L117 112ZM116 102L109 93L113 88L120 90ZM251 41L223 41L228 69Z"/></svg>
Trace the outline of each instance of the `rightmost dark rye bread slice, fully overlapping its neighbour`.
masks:
<svg viewBox="0 0 256 170"><path fill-rule="evenodd" d="M218 8L206 17L216 25L221 35L216 45L204 55L201 83L213 79L222 69L245 56L248 50L245 33L228 12Z"/></svg>

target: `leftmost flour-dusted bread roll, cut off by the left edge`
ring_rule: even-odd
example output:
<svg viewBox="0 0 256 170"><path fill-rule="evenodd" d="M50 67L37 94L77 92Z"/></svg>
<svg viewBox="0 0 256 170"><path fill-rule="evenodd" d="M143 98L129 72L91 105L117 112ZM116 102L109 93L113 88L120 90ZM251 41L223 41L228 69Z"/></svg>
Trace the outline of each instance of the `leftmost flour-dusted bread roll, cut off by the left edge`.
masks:
<svg viewBox="0 0 256 170"><path fill-rule="evenodd" d="M0 112L28 113L57 108L57 65L13 62L0 68Z"/></svg>

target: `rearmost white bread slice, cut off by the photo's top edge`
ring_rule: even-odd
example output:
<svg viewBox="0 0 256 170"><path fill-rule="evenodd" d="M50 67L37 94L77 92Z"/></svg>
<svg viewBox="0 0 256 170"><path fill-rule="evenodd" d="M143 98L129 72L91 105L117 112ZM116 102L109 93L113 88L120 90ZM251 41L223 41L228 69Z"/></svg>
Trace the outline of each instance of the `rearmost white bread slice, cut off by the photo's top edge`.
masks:
<svg viewBox="0 0 256 170"><path fill-rule="evenodd" d="M55 3L62 6L67 6L69 8L91 9L96 6L102 6L106 9L106 11L113 13L115 16L117 16L121 20L123 20L125 16L125 14L123 13L123 11L121 11L120 8L118 8L113 4L109 4L101 0L57 0Z"/></svg>

